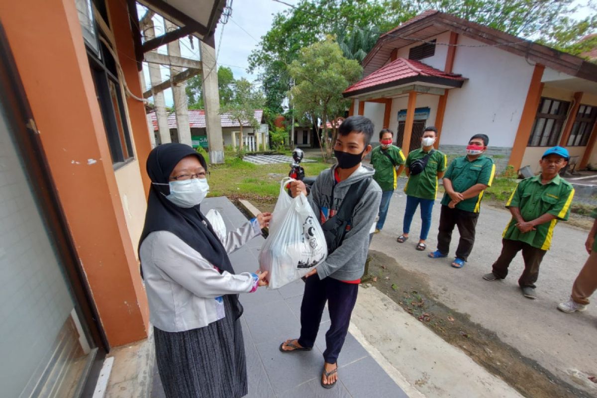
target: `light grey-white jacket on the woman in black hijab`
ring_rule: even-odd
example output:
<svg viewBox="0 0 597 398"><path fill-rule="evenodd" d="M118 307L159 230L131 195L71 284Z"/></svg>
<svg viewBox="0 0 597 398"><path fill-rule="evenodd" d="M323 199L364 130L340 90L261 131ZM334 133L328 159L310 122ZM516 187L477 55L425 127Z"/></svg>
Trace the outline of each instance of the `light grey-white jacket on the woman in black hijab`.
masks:
<svg viewBox="0 0 597 398"><path fill-rule="evenodd" d="M220 236L228 254L261 235L255 219L227 236ZM152 232L139 251L149 301L149 319L165 332L202 328L224 314L224 294L250 292L256 286L254 274L220 272L195 249L167 231Z"/></svg>

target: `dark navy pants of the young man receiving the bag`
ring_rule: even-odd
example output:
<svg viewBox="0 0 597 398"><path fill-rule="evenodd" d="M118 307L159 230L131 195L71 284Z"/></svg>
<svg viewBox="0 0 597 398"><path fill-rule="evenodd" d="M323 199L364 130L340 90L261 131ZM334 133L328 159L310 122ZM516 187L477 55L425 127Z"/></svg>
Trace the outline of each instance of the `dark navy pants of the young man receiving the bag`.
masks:
<svg viewBox="0 0 597 398"><path fill-rule="evenodd" d="M313 347L327 301L331 325L325 334L324 360L327 363L336 363L348 332L350 314L355 307L358 291L358 283L346 283L331 277L320 280L317 274L308 277L304 286L303 304L300 307L301 329L298 344L302 347Z"/></svg>

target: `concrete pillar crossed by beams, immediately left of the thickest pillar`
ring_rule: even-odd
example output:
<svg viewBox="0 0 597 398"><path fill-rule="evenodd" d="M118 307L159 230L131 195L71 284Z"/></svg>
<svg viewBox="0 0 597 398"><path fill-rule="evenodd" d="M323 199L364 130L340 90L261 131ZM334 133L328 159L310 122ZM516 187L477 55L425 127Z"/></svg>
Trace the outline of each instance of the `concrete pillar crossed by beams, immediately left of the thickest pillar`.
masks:
<svg viewBox="0 0 597 398"><path fill-rule="evenodd" d="M179 29L178 26L168 20L164 20L166 32ZM175 40L168 43L168 55L180 57L180 42ZM178 75L183 72L183 68L170 67L170 76ZM174 112L176 113L176 125L179 131L179 143L191 145L190 124L189 124L189 102L186 97L186 82L180 82L172 86L172 96L174 97Z"/></svg>

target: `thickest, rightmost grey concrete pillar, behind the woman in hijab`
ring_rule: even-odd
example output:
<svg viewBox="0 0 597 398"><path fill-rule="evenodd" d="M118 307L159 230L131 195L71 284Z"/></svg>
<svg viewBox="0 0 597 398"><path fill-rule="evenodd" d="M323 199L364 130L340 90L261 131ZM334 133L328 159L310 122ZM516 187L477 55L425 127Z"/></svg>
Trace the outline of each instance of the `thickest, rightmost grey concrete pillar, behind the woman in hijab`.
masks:
<svg viewBox="0 0 597 398"><path fill-rule="evenodd" d="M204 42L199 42L201 50L201 76L203 81L203 103L205 107L205 131L211 163L224 163L224 140L220 120L220 92L218 90L218 70L216 50ZM233 140L233 146L235 146Z"/></svg>

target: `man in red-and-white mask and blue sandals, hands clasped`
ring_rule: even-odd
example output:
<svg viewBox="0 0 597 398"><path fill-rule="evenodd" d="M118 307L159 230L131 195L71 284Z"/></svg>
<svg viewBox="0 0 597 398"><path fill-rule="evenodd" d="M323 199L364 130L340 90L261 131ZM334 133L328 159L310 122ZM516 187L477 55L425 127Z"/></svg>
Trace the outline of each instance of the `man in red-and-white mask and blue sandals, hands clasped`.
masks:
<svg viewBox="0 0 597 398"><path fill-rule="evenodd" d="M488 143L487 135L473 135L466 147L466 156L454 159L444 175L445 193L439 215L438 249L429 253L429 257L447 257L452 231L457 226L460 241L452 262L454 268L462 268L473 250L481 199L496 173L493 160L483 156Z"/></svg>

